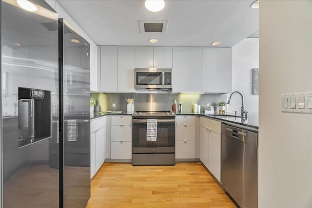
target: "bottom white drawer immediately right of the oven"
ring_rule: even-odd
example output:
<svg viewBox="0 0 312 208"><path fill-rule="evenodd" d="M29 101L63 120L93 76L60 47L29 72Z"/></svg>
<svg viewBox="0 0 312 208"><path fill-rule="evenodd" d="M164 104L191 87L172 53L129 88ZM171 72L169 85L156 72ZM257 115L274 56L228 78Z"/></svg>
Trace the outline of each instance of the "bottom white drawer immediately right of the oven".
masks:
<svg viewBox="0 0 312 208"><path fill-rule="evenodd" d="M176 159L194 159L195 157L195 141L176 141Z"/></svg>

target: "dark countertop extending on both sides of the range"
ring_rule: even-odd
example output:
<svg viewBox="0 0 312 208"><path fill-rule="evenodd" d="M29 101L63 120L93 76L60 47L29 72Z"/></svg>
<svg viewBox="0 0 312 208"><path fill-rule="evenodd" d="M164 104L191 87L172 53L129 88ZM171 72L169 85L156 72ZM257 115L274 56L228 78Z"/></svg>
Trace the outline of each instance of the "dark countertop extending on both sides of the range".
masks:
<svg viewBox="0 0 312 208"><path fill-rule="evenodd" d="M121 113L106 113L106 112L94 112L93 116L91 114L91 119L98 118L104 115L132 115L132 113L121 112ZM204 113L192 113L192 112L183 112L183 113L176 113L176 115L201 115L208 118L213 118L215 120L219 120L221 122L227 123L234 123L254 129L258 129L259 127L259 120L257 115L249 114L247 119L240 118L240 117L220 117L215 115L204 115ZM226 115L233 115L233 114L226 114Z"/></svg>

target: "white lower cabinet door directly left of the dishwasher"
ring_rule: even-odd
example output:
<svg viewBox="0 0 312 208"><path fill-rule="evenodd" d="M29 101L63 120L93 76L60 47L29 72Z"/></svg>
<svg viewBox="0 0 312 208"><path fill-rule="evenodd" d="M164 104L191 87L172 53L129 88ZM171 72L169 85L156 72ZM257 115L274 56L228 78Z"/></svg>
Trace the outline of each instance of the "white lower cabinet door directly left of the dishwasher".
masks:
<svg viewBox="0 0 312 208"><path fill-rule="evenodd" d="M208 136L208 170L220 182L221 178L221 135L216 132L209 132Z"/></svg>

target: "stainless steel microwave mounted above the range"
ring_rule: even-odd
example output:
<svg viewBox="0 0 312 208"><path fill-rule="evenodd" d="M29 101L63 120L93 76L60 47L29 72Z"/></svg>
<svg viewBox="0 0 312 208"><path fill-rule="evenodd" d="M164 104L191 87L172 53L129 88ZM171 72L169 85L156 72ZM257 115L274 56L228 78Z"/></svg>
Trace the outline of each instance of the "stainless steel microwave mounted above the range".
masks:
<svg viewBox="0 0 312 208"><path fill-rule="evenodd" d="M135 88L137 90L171 90L172 69L135 69Z"/></svg>

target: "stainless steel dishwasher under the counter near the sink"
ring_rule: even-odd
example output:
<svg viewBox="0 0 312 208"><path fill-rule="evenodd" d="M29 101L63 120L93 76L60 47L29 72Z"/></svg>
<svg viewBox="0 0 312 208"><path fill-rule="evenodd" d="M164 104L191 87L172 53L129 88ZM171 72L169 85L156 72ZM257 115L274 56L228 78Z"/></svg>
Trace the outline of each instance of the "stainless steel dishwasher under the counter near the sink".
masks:
<svg viewBox="0 0 312 208"><path fill-rule="evenodd" d="M241 208L258 207L258 133L221 125L221 184Z"/></svg>

